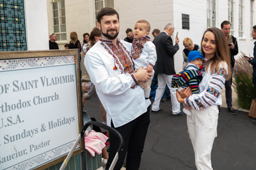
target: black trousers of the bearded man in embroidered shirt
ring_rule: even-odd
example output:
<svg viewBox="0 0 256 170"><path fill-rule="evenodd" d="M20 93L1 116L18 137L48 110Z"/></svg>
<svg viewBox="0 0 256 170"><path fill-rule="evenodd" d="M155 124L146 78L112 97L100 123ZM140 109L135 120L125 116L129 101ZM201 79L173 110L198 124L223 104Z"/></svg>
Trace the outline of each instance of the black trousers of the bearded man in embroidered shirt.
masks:
<svg viewBox="0 0 256 170"><path fill-rule="evenodd" d="M120 170L124 164L125 155L126 157L126 169L135 170L140 168L141 154L143 152L145 139L147 136L148 125L150 123L150 106L147 108L147 112L140 115L140 117L132 120L131 122L122 125L121 127L114 127L111 122L111 127L115 128L116 131L124 138L123 150L118 153L119 159L116 162L114 169ZM109 132L109 159L106 169L109 169L111 162L113 161L116 151L119 146L119 140L116 136Z"/></svg>

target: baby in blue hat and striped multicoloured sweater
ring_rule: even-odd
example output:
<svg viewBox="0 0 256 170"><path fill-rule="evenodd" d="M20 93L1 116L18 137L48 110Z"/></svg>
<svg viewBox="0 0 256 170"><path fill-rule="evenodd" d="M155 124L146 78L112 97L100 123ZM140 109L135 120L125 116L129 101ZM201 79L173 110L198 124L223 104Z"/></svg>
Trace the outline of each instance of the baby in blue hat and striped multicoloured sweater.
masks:
<svg viewBox="0 0 256 170"><path fill-rule="evenodd" d="M188 53L188 66L184 67L184 71L174 74L172 77L172 87L178 87L178 91L183 88L190 87L193 94L199 92L198 84L202 80L202 75L198 69L203 64L204 56L198 51L191 51ZM190 107L184 104L183 112L191 115Z"/></svg>

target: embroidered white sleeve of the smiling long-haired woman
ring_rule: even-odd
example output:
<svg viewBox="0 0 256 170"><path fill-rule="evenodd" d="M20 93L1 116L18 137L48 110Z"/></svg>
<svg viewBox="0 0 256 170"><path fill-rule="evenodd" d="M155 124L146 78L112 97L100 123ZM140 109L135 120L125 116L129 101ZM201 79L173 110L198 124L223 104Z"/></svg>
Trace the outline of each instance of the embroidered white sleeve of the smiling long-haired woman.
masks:
<svg viewBox="0 0 256 170"><path fill-rule="evenodd" d="M225 85L225 78L227 77L227 67L218 67L215 69L214 74L209 75L202 81L208 81L207 86L200 94L193 94L185 99L185 103L195 110L202 110L212 106L221 97L221 90Z"/></svg>

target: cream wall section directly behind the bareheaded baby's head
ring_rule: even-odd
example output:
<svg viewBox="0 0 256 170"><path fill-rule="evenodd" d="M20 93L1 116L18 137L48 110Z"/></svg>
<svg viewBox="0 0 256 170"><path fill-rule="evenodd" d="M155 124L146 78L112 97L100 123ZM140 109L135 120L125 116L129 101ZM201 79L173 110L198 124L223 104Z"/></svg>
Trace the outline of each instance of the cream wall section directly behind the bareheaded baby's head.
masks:
<svg viewBox="0 0 256 170"><path fill-rule="evenodd" d="M138 20L147 20L152 32L154 29L163 31L164 26L173 22L173 1L137 0L137 1L115 1L115 10L120 17L119 37L126 37L125 30L134 28ZM152 34L150 38L154 38Z"/></svg>

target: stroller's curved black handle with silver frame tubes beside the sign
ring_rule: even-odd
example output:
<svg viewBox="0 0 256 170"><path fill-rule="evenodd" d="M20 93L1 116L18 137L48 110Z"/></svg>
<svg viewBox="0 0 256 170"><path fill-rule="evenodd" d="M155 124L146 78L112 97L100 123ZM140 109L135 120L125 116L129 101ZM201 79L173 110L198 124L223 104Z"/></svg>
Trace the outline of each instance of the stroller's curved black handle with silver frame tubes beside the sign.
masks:
<svg viewBox="0 0 256 170"><path fill-rule="evenodd" d="M113 162L111 163L109 169L112 170L114 169L115 165L116 165L116 161L118 160L118 153L119 152L122 152L122 146L124 145L124 138L122 137L122 135L116 131L115 129L113 129L112 127L109 127L108 125L106 124L102 124L102 123L99 123L99 122L95 122L95 121L90 121L90 122L87 122L83 129L81 130L81 132L79 133L77 139L76 139L76 143L74 144L74 146L72 147L72 149L70 150L70 152L68 153L67 155L67 158L63 161L61 167L60 167L60 170L64 170L65 167L67 166L67 163L68 161L70 160L70 157L72 157L72 154L74 153L75 149L76 149L76 146L78 145L80 139L84 136L84 132L86 131L87 127L89 125L95 125L97 127L102 127L103 129L106 129L108 130L109 132L112 132L113 134L115 134L118 139L119 139L119 147L118 147L118 150L116 151L116 155L113 159Z"/></svg>

